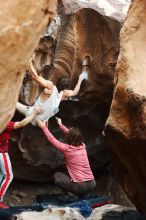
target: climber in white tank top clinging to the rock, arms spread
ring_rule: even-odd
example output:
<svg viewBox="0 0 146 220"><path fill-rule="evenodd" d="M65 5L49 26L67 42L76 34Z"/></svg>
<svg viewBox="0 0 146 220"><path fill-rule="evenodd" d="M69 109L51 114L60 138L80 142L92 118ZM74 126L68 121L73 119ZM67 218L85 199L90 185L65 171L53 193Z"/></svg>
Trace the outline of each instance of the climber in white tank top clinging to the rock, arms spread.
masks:
<svg viewBox="0 0 146 220"><path fill-rule="evenodd" d="M59 111L59 104L62 100L75 96L80 90L80 85L84 79L87 79L87 74L82 73L79 76L78 82L74 90L63 90L58 92L56 86L50 80L46 80L41 76L38 76L32 61L30 61L31 75L33 79L38 82L42 87L44 87L40 96L36 100L33 106L26 106L17 102L16 109L25 115L26 117L30 115L34 109L39 108L42 110L42 113L37 115L34 120L31 122L33 125L36 125L36 121L40 119L41 121L48 121L49 118L54 116Z"/></svg>

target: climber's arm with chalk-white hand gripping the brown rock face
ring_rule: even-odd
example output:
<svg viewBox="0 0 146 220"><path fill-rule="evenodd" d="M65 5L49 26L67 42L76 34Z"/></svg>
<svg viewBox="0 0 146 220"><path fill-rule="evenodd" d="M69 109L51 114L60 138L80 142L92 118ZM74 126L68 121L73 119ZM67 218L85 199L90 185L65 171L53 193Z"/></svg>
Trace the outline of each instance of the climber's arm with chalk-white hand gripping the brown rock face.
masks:
<svg viewBox="0 0 146 220"><path fill-rule="evenodd" d="M87 78L88 78L87 73L82 72L79 76L78 82L77 82L74 90L65 89L63 91L62 100L64 100L65 98L68 98L70 96L76 96L80 90L80 86L81 86L82 81Z"/></svg>

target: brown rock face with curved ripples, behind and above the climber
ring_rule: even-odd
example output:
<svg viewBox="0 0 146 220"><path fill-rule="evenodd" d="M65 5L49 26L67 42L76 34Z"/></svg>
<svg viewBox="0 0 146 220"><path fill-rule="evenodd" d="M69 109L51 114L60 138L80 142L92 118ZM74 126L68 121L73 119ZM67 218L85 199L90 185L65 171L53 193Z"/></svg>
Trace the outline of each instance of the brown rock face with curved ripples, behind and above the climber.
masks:
<svg viewBox="0 0 146 220"><path fill-rule="evenodd" d="M60 31L49 79L57 82L64 75L74 87L85 56L91 59L89 81L79 97L84 102L94 99L109 104L113 92L114 69L119 52L119 22L100 15L93 9L81 9Z"/></svg>

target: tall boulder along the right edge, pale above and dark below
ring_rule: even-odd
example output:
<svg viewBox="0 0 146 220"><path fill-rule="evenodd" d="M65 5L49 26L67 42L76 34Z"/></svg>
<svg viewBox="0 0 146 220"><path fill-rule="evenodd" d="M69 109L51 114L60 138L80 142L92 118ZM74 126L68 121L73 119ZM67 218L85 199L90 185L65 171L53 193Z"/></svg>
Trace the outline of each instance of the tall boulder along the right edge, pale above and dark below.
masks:
<svg viewBox="0 0 146 220"><path fill-rule="evenodd" d="M135 206L146 214L146 2L132 2L121 30L115 91L106 137L115 174ZM119 175L120 173L120 175Z"/></svg>

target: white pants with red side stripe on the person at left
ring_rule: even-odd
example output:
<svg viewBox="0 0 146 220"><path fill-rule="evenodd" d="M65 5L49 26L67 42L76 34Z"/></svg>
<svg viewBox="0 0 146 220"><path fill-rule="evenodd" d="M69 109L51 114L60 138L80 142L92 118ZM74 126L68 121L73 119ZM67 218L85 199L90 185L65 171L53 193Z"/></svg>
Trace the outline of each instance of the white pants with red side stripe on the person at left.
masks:
<svg viewBox="0 0 146 220"><path fill-rule="evenodd" d="M3 196L13 180L12 166L8 153L0 153L0 169L2 175L0 182L0 201L3 201Z"/></svg>

